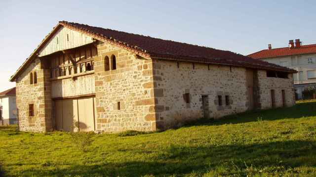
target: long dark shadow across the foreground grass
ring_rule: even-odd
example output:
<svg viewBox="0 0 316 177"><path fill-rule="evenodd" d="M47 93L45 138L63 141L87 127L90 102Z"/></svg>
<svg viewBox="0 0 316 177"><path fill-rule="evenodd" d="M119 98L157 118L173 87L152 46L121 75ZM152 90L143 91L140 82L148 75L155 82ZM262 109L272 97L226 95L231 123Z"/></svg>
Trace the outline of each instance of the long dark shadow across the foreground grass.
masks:
<svg viewBox="0 0 316 177"><path fill-rule="evenodd" d="M142 151L128 150L129 154L142 155ZM199 146L188 147L171 145L155 153L152 159L145 161L128 161L118 159L121 163L106 161L86 162L68 165L63 169L50 164L40 169L25 170L26 176L169 176L186 175L192 172L204 174L210 170L224 169L222 175L239 174L245 176L248 166L265 169L274 173L294 167L316 166L315 141L285 141L252 145ZM145 155L143 153L143 155ZM125 161L125 162L124 162ZM91 165L93 164L93 165ZM58 164L57 164L58 165ZM56 165L56 166L57 166ZM63 163L64 165L64 163Z"/></svg>

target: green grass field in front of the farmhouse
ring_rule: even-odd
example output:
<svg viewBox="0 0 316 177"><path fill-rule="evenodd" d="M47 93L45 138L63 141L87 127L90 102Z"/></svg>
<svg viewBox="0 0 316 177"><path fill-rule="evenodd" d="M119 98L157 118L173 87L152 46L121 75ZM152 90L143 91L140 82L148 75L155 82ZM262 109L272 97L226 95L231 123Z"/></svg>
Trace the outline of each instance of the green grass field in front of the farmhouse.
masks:
<svg viewBox="0 0 316 177"><path fill-rule="evenodd" d="M70 133L15 129L0 127L5 176L316 176L316 101L164 132L82 135L86 149Z"/></svg>

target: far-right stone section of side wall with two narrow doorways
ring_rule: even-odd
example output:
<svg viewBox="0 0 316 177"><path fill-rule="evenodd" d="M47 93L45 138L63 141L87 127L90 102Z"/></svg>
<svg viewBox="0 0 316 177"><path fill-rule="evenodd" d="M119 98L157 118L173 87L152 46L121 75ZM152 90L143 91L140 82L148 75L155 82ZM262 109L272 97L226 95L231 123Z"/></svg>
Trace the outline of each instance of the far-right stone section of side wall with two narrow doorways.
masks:
<svg viewBox="0 0 316 177"><path fill-rule="evenodd" d="M275 106L282 107L282 90L285 91L285 105L295 105L295 94L293 88L292 74L288 75L288 79L267 77L266 71L258 71L259 92L261 109L272 108L271 90L275 90Z"/></svg>

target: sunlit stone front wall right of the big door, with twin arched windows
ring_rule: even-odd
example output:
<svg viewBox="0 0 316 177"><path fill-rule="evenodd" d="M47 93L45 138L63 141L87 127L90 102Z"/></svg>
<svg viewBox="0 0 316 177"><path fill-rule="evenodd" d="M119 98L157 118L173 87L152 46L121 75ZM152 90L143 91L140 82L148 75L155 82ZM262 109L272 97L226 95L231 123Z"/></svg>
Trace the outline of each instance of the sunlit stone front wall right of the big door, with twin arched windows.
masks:
<svg viewBox="0 0 316 177"><path fill-rule="evenodd" d="M150 112L155 106L152 60L103 42L97 47L98 57L94 61L97 129L156 130L155 113ZM117 69L105 71L105 58L108 56L111 65L112 55L116 56Z"/></svg>

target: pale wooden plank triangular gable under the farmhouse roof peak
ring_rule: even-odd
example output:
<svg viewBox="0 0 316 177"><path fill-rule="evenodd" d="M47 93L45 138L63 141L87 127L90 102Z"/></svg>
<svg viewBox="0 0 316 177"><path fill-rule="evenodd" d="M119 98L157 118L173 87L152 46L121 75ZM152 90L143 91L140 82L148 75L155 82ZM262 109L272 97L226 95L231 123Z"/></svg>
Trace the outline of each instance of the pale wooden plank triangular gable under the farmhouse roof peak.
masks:
<svg viewBox="0 0 316 177"><path fill-rule="evenodd" d="M93 38L81 32L61 27L42 47L39 57L46 56L57 51L71 49L93 42Z"/></svg>

